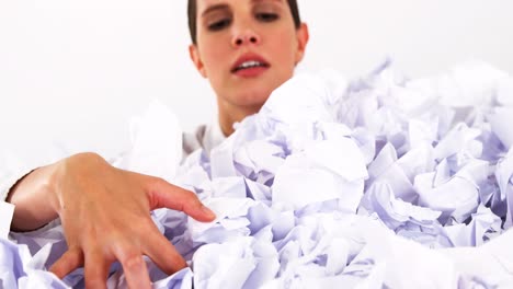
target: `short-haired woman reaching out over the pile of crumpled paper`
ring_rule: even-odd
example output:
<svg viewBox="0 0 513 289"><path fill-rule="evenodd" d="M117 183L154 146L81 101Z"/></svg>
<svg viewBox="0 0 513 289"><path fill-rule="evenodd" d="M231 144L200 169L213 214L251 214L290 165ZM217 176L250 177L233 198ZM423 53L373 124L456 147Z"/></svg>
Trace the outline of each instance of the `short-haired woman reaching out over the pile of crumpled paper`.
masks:
<svg viewBox="0 0 513 289"><path fill-rule="evenodd" d="M191 59L216 92L219 128L229 136L236 122L256 113L293 76L308 43L307 26L295 0L190 0L189 19ZM206 137L200 138L203 147ZM186 266L150 210L215 218L193 193L118 170L94 153L34 170L10 189L8 201L16 206L13 230L34 230L60 217L69 248L50 270L62 278L83 266L89 288L105 287L116 259L132 288L150 287L142 255L168 274Z"/></svg>

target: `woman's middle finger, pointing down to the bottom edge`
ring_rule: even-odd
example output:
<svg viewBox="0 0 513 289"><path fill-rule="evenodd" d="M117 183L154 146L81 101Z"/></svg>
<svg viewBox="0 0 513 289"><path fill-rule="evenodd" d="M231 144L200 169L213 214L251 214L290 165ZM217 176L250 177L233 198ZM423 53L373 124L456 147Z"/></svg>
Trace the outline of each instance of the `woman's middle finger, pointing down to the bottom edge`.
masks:
<svg viewBox="0 0 513 289"><path fill-rule="evenodd" d="M140 250L121 245L115 247L114 254L123 266L128 288L151 288L148 268Z"/></svg>

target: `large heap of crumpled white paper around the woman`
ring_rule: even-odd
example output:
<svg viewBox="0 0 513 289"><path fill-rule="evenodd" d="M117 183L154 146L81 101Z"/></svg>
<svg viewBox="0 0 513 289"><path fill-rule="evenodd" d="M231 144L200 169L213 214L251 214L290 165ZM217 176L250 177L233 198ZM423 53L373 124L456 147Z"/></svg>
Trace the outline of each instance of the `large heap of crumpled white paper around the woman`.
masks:
<svg viewBox="0 0 513 289"><path fill-rule="evenodd" d="M153 103L146 119L121 166L192 189L217 215L152 212L191 265L166 276L148 259L155 288L513 285L508 73L470 62L410 80L387 61L357 80L298 74L178 167L156 160L179 146L151 138L173 117ZM59 226L11 236L0 241L5 288L83 287L81 270L64 281L45 270L66 248ZM109 286L126 287L118 265Z"/></svg>

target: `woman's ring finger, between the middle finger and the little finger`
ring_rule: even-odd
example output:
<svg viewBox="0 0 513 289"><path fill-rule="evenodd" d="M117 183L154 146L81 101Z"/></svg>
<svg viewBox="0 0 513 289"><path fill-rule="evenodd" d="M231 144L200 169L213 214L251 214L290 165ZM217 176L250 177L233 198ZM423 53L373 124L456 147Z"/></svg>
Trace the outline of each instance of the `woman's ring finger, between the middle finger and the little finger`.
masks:
<svg viewBox="0 0 513 289"><path fill-rule="evenodd" d="M106 288L109 266L101 251L86 253L86 288Z"/></svg>

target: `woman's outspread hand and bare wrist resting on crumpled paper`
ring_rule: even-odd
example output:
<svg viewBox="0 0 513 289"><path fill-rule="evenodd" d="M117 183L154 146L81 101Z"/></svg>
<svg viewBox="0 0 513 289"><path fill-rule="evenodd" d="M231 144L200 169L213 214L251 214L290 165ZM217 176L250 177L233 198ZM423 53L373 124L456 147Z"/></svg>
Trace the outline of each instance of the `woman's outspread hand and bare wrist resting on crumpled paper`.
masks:
<svg viewBox="0 0 513 289"><path fill-rule="evenodd" d="M16 206L14 230L33 230L60 217L68 251L50 271L62 278L83 266L88 288L106 288L115 261L130 288L150 288L144 255L167 274L186 266L157 229L151 210L170 208L198 221L215 219L194 193L116 169L95 153L76 154L32 172L8 200Z"/></svg>

